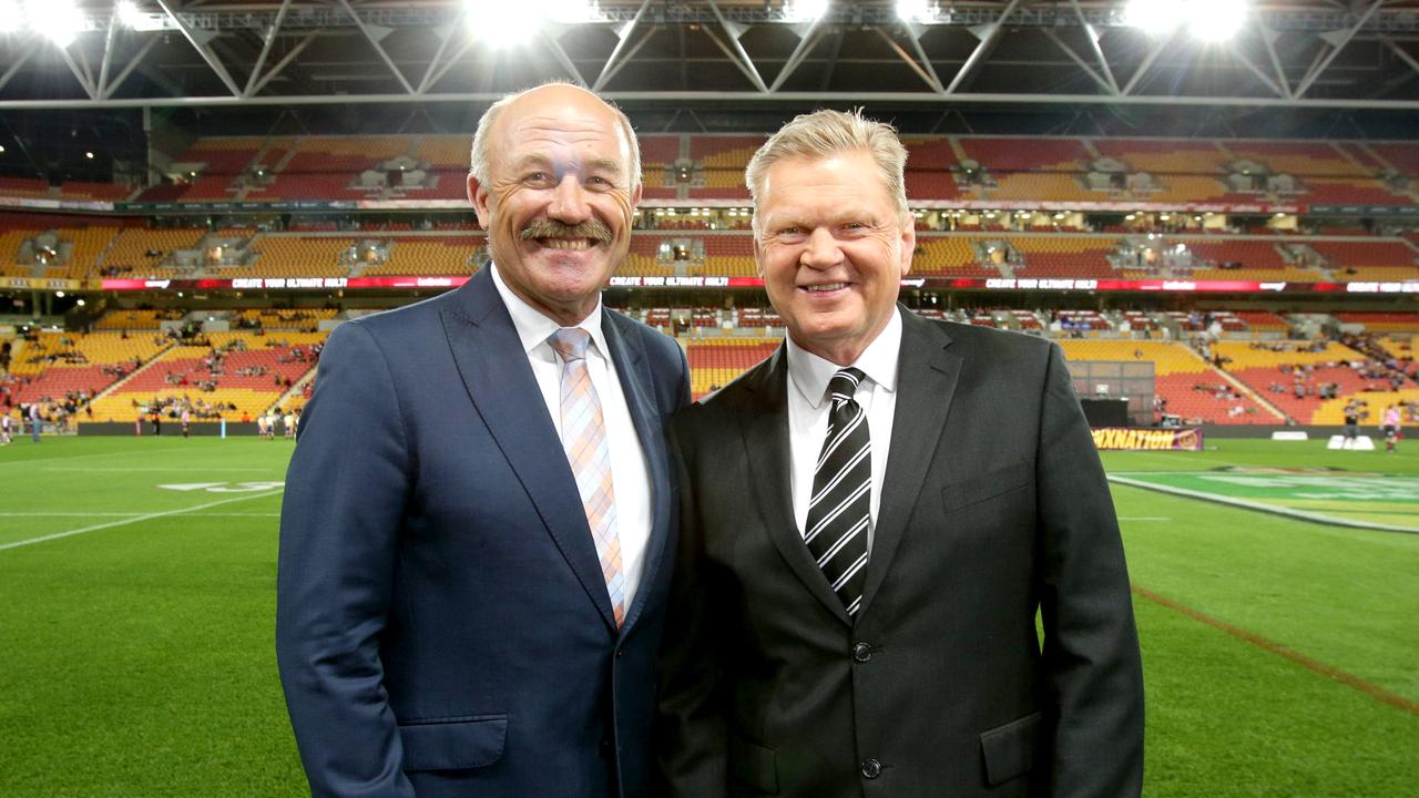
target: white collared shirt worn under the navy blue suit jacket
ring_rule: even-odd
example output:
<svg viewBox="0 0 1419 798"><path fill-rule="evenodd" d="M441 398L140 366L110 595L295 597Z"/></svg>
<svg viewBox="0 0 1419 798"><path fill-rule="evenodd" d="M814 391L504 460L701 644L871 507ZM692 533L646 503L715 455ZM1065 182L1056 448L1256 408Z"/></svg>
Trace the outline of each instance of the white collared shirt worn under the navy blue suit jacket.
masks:
<svg viewBox="0 0 1419 798"><path fill-rule="evenodd" d="M562 434L562 358L558 356L548 337L561 329L556 321L542 315L532 305L524 302L508 288L492 270L492 284L502 297L502 304L512 315L512 327L518 331L522 349L526 352L532 375L542 390L542 400L552 416L556 434ZM602 332L602 301L596 300L596 308L582 319L580 327L592 337L592 345L586 348L586 371L592 378L592 388L602 403L602 417L606 422L606 444L612 454L612 490L616 491L616 534L620 537L622 571L626 589L626 612L630 612L636 599L636 588L640 586L641 571L646 568L646 547L650 544L651 507L650 507L650 470L646 467L646 453L636 434L636 425L630 417L630 408L626 405L626 393L620 388L616 375L616 364L612 361L610 349L606 348L606 335Z"/></svg>

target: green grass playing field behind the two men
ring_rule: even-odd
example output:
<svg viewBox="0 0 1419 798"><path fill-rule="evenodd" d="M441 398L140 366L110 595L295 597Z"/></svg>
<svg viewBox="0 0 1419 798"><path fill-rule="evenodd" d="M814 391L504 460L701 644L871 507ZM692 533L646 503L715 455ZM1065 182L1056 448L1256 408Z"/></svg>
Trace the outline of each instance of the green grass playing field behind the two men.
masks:
<svg viewBox="0 0 1419 798"><path fill-rule="evenodd" d="M1219 442L1105 464L1403 480L1419 442L1405 449ZM289 454L248 439L0 449L0 797L305 794L272 653L272 483ZM1114 496L1147 672L1147 795L1419 795L1419 535Z"/></svg>

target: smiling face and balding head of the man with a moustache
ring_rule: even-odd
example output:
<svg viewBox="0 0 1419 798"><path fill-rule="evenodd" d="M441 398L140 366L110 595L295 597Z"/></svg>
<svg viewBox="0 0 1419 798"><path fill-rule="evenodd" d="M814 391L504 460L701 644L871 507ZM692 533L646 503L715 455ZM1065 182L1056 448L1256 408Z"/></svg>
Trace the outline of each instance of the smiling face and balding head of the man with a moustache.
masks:
<svg viewBox="0 0 1419 798"><path fill-rule="evenodd" d="M630 248L640 186L616 114L566 85L532 89L494 122L488 182L468 197L498 274L543 315L570 327L596 308Z"/></svg>

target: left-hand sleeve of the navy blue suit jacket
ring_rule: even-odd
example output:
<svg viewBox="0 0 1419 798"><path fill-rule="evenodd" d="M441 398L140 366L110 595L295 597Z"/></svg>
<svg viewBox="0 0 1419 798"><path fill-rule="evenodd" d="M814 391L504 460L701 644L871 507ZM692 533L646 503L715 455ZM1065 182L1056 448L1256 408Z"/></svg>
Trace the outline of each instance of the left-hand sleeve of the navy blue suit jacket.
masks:
<svg viewBox="0 0 1419 798"><path fill-rule="evenodd" d="M277 662L315 797L413 795L379 660L412 471L385 354L341 325L287 473L277 567Z"/></svg>

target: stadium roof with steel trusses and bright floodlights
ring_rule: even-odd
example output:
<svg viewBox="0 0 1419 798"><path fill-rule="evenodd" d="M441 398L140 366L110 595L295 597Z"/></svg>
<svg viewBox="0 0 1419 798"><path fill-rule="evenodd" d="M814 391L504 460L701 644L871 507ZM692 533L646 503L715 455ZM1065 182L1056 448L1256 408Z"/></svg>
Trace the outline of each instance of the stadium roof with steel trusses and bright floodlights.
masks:
<svg viewBox="0 0 1419 798"><path fill-rule="evenodd" d="M1419 109L1419 0L1148 1L0 0L0 109L488 102L548 80L623 104Z"/></svg>

